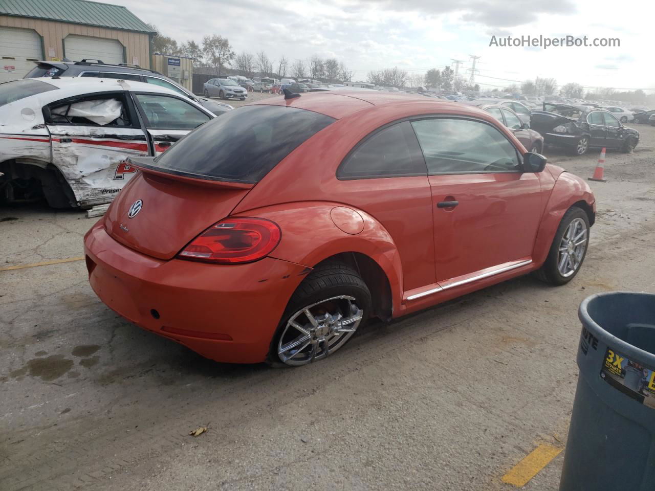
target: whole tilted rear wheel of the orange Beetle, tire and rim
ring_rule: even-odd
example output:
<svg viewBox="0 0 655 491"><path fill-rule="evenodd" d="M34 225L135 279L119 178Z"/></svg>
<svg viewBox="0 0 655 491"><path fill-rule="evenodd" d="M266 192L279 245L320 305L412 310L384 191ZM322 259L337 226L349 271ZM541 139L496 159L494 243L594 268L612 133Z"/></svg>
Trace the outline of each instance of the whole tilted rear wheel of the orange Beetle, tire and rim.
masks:
<svg viewBox="0 0 655 491"><path fill-rule="evenodd" d="M282 316L269 352L269 364L307 365L333 354L365 325L371 292L350 266L318 266L297 287Z"/></svg>

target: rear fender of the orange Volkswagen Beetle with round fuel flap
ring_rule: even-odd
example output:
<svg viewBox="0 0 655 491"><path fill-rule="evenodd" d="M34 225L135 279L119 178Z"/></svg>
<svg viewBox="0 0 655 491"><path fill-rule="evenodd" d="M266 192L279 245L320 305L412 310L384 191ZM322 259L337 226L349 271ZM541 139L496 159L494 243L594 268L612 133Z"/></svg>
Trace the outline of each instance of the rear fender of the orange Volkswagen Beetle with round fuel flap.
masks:
<svg viewBox="0 0 655 491"><path fill-rule="evenodd" d="M333 212L335 208L337 213ZM343 208L354 213L338 213L345 211ZM403 282L398 249L386 228L365 211L333 202L295 202L240 214L269 219L280 226L280 244L270 254L276 259L313 268L339 253L367 255L386 274L394 312L400 310Z"/></svg>

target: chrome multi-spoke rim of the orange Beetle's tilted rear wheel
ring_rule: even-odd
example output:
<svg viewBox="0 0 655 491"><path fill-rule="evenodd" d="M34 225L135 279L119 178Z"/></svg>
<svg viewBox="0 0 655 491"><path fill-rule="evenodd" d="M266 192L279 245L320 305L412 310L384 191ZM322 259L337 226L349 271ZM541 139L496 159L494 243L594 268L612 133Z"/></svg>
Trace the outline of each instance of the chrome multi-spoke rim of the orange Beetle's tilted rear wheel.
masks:
<svg viewBox="0 0 655 491"><path fill-rule="evenodd" d="M294 366L325 358L355 333L363 314L354 297L347 295L301 308L284 327L278 342L278 357Z"/></svg>

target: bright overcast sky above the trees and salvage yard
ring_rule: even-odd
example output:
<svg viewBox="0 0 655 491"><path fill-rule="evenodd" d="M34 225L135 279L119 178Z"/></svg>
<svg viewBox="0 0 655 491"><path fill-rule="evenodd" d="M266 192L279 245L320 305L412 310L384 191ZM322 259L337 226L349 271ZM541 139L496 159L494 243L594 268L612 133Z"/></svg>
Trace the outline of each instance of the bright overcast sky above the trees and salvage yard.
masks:
<svg viewBox="0 0 655 491"><path fill-rule="evenodd" d="M111 0L178 43L227 37L236 52L276 60L334 57L365 80L372 69L410 73L481 56L476 82L489 88L534 77L558 84L655 89L655 2L631 0ZM502 48L492 35L618 37L614 48ZM467 75L468 76L468 75ZM495 78L491 78L495 77ZM498 80L508 79L508 80Z"/></svg>

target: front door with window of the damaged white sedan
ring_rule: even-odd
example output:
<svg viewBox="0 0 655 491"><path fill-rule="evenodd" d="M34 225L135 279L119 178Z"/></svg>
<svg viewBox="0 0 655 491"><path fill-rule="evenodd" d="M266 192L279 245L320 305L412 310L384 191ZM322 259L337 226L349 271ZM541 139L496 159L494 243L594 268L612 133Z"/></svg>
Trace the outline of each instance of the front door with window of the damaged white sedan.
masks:
<svg viewBox="0 0 655 491"><path fill-rule="evenodd" d="M145 122L155 156L168 150L181 137L213 117L176 96L144 92L136 92L133 96Z"/></svg>

